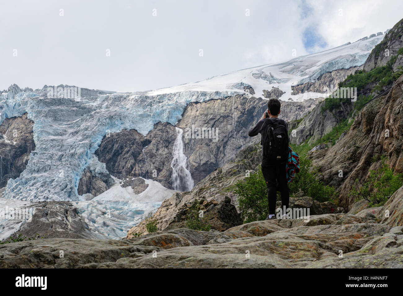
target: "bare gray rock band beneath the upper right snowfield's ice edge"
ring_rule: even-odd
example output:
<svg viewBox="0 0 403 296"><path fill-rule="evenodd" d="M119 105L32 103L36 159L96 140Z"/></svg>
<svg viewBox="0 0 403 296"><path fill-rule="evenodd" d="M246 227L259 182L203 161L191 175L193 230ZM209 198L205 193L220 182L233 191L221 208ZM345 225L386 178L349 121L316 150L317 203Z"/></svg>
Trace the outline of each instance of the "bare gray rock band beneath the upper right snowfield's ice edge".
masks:
<svg viewBox="0 0 403 296"><path fill-rule="evenodd" d="M344 81L347 76L354 74L355 71L360 70L362 66L355 66L348 69L337 69L332 72L320 75L315 82L308 82L300 85L292 86L293 92L291 95L305 93L305 91L313 91L317 93L325 93L326 88L330 89L331 85L337 87L341 81Z"/></svg>

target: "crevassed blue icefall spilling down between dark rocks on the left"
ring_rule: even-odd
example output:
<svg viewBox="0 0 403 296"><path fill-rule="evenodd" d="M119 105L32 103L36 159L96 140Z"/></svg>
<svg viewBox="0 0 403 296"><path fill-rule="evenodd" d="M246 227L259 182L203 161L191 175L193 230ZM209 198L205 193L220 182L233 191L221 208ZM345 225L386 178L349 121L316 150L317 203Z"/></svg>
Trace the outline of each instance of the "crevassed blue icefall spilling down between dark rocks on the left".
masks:
<svg viewBox="0 0 403 296"><path fill-rule="evenodd" d="M146 135L157 122L176 124L189 102L235 95L234 91L184 91L163 95L112 93L80 101L48 98L46 88L0 97L1 121L28 113L35 151L19 178L8 180L4 197L77 201L84 168L107 172L93 153L107 132L135 128Z"/></svg>

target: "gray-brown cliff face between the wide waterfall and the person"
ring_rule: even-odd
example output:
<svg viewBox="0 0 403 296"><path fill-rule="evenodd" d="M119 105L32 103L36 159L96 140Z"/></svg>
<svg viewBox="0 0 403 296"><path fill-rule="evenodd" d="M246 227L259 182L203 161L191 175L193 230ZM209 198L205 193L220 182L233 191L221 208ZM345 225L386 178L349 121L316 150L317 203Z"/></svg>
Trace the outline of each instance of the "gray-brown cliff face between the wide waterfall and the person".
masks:
<svg viewBox="0 0 403 296"><path fill-rule="evenodd" d="M191 103L177 124L179 128L214 128L218 139L184 138L185 155L195 184L232 160L236 153L251 143L251 129L267 109L266 101L237 95L232 98ZM184 132L185 133L185 132Z"/></svg>

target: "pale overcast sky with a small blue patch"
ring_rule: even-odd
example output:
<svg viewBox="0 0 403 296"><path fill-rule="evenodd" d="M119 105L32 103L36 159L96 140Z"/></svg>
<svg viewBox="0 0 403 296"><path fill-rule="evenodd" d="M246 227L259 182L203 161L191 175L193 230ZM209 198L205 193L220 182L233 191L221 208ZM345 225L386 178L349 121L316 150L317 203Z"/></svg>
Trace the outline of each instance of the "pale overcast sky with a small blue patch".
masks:
<svg viewBox="0 0 403 296"><path fill-rule="evenodd" d="M0 1L1 90L157 89L354 42L403 18L401 0Z"/></svg>

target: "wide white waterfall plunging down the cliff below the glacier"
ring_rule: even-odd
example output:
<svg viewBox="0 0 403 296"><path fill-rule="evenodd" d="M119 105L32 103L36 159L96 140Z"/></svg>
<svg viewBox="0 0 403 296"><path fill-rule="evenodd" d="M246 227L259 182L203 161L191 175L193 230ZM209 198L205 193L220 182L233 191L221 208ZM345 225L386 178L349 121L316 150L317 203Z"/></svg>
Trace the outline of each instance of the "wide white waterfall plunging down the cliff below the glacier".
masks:
<svg viewBox="0 0 403 296"><path fill-rule="evenodd" d="M176 128L177 138L175 139L172 151L172 187L179 191L190 191L194 186L194 181L189 170L186 168L187 157L183 153L183 130Z"/></svg>

